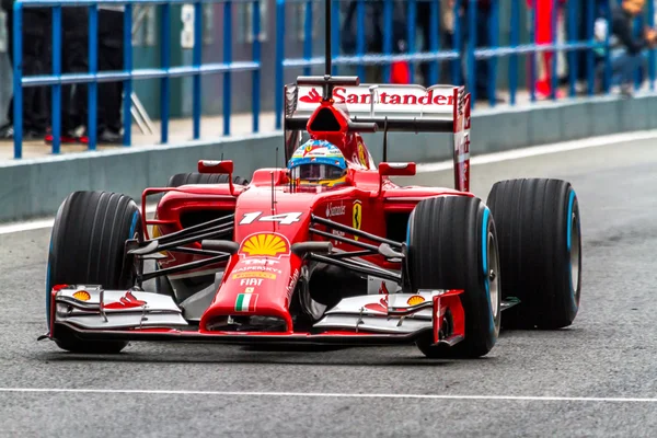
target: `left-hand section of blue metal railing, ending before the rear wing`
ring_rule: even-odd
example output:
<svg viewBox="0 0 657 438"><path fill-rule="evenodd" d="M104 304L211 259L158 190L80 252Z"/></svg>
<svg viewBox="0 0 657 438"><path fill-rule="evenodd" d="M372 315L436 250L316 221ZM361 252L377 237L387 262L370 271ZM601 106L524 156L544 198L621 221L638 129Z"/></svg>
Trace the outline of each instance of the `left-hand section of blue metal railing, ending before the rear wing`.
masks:
<svg viewBox="0 0 657 438"><path fill-rule="evenodd" d="M60 151L61 137L61 87L65 84L88 84L88 137L89 149L96 148L96 117L97 117L97 83L123 81L124 85L124 146L131 143L131 91L132 81L142 79L160 79L161 92L161 141L169 141L169 115L170 115L170 79L193 77L193 136L200 137L201 117L201 81L204 74L223 74L223 134L230 134L231 116L231 73L251 71L253 74L252 107L253 130L260 129L260 70L261 70L261 43L260 43L260 8L264 0L16 0L14 2L14 158L22 157L23 141L23 88L26 87L51 87L51 132L53 153ZM232 11L235 3L253 3L253 57L250 61L232 60ZM194 47L192 66L171 66L171 5L194 3ZM223 62L203 64L201 60L201 30L203 14L201 3L223 3ZM124 13L124 69L123 71L97 71L97 32L99 32L99 4L125 4ZM132 5L153 4L162 8L161 28L161 68L132 69ZM23 9L25 8L51 8L53 9L53 72L47 76L23 77ZM89 10L89 72L62 73L61 65L61 10L66 7L87 7Z"/></svg>

